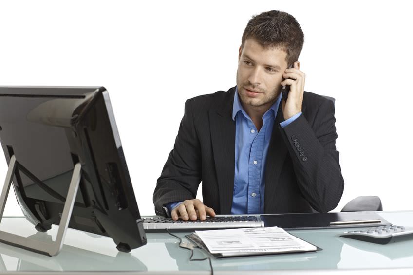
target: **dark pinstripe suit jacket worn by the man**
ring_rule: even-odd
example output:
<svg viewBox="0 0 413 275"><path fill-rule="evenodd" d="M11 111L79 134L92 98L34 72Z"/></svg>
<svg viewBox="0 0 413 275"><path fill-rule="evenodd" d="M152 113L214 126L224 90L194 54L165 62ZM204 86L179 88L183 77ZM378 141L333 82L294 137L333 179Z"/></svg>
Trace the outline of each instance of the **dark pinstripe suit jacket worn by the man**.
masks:
<svg viewBox="0 0 413 275"><path fill-rule="evenodd" d="M169 202L193 199L230 214L235 171L235 87L188 99L175 146L153 194L157 215ZM302 115L281 128L277 112L265 163L265 213L327 212L343 193L332 101L304 92Z"/></svg>

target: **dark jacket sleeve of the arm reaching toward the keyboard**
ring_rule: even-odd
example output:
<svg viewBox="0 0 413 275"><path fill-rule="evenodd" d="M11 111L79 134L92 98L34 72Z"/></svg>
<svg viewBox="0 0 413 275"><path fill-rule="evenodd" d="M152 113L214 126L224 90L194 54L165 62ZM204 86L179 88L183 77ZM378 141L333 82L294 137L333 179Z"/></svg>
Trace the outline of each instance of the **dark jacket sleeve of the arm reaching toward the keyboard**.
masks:
<svg viewBox="0 0 413 275"><path fill-rule="evenodd" d="M175 145L153 193L157 215L164 215L163 205L166 203L194 199L201 182L201 149L190 102L185 102Z"/></svg>

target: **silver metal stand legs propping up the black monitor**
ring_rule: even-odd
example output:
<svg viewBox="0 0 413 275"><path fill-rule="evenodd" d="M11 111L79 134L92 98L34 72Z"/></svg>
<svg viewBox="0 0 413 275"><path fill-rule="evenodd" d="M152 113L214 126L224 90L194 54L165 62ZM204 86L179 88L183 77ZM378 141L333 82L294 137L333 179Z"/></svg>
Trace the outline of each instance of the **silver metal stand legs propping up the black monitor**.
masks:
<svg viewBox="0 0 413 275"><path fill-rule="evenodd" d="M0 223L3 218L4 206L6 205L7 195L9 194L10 185L13 180L13 175L16 170L16 157L13 155L10 158L9 169L7 170L6 180L0 196ZM66 235L66 230L69 225L69 220L72 215L73 205L77 194L77 189L80 183L82 165L77 163L73 169L72 180L70 181L69 190L67 192L66 201L63 207L62 216L57 231L56 241L44 242L37 239L22 237L13 233L0 230L0 242L31 250L37 253L48 256L57 255L63 247L63 239Z"/></svg>

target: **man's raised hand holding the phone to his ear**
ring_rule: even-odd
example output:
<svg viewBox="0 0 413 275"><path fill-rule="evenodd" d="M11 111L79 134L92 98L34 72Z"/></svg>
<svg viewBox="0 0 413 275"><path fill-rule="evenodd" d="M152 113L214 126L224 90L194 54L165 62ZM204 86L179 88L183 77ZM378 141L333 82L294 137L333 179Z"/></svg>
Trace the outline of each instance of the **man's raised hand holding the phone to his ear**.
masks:
<svg viewBox="0 0 413 275"><path fill-rule="evenodd" d="M281 85L290 86L287 102L282 101L282 112L284 113L284 119L287 120L299 113L302 108L305 73L300 71L300 62L294 62L293 68L286 69L282 77L284 80Z"/></svg>

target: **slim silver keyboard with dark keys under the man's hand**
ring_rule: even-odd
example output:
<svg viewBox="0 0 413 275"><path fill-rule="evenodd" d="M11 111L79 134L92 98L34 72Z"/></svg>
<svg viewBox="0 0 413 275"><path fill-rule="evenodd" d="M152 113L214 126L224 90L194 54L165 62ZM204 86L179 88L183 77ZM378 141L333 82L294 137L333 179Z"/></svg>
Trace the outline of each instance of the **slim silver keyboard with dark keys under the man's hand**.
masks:
<svg viewBox="0 0 413 275"><path fill-rule="evenodd" d="M206 220L172 220L172 218L150 217L143 218L145 231L188 231L202 229L225 229L241 227L264 227L260 216L224 216L207 217Z"/></svg>

